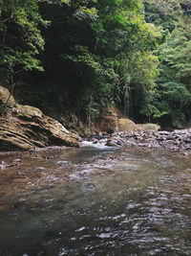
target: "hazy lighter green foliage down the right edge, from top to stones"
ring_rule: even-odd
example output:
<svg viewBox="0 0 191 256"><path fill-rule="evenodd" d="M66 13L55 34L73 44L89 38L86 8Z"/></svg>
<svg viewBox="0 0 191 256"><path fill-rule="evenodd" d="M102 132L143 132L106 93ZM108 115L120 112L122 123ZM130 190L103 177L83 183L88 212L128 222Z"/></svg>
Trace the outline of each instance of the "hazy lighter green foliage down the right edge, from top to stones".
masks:
<svg viewBox="0 0 191 256"><path fill-rule="evenodd" d="M191 26L189 1L145 1L146 19L166 32L160 45L158 89L150 107L153 118L180 128L191 118Z"/></svg>

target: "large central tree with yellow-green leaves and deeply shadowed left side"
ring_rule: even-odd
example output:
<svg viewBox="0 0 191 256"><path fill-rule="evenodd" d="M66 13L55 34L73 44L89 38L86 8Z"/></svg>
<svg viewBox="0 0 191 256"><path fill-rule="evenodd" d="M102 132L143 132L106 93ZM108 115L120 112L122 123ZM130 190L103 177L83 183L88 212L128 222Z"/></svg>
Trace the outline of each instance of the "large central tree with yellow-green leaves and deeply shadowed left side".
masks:
<svg viewBox="0 0 191 256"><path fill-rule="evenodd" d="M42 61L46 85L56 102L68 108L73 105L82 116L96 117L101 107L111 103L130 114L136 77L149 76L146 69L152 67L156 58L152 51L161 36L154 25L145 23L141 1L42 3L40 11L52 24L43 32ZM139 86L149 91L154 78L139 80Z"/></svg>

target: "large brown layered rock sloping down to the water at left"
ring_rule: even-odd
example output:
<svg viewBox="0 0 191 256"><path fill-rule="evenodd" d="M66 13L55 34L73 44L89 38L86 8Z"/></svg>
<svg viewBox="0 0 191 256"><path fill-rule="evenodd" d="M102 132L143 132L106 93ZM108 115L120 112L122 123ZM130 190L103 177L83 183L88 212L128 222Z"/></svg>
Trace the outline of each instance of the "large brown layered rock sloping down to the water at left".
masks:
<svg viewBox="0 0 191 256"><path fill-rule="evenodd" d="M0 103L9 91L0 86ZM11 97L10 111L0 118L0 151L32 150L48 146L78 146L78 136L38 108L15 105Z"/></svg>

